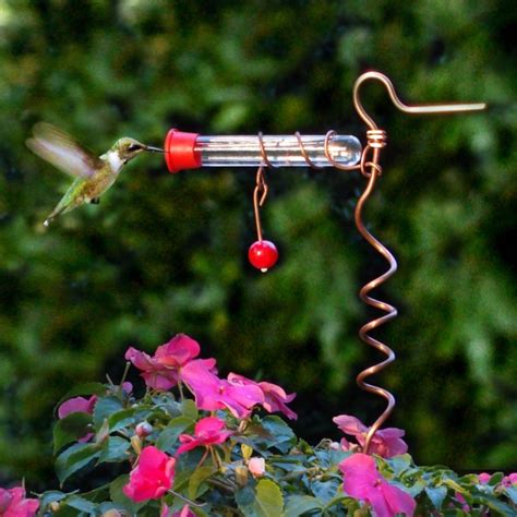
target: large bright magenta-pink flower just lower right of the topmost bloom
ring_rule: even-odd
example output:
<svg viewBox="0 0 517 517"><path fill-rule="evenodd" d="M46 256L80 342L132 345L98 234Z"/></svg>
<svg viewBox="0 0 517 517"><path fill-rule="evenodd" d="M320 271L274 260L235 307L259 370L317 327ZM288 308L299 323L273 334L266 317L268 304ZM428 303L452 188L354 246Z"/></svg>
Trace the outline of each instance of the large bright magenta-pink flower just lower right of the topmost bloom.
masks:
<svg viewBox="0 0 517 517"><path fill-rule="evenodd" d="M212 372L214 363L208 361L197 359L181 369L181 381L194 394L199 409L229 409L236 418L243 419L251 414L253 406L264 404L264 394L258 386L236 385L219 378Z"/></svg>

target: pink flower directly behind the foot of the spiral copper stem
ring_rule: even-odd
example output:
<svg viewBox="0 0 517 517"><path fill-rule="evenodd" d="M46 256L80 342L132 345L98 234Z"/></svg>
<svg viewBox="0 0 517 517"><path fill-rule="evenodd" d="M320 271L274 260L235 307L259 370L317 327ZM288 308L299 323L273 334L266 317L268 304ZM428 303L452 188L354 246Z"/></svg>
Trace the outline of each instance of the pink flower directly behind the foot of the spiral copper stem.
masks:
<svg viewBox="0 0 517 517"><path fill-rule="evenodd" d="M359 445L364 447L366 433L370 428L366 428L359 419L348 414L340 414L339 417L334 417L333 422L336 423L345 434L356 436ZM404 440L401 440L404 435L405 432L397 428L380 430L373 435L370 442L369 453L377 454L383 458L390 458L398 454L405 454L408 450L408 445ZM351 448L351 445L346 438L342 438L341 445L345 450Z"/></svg>

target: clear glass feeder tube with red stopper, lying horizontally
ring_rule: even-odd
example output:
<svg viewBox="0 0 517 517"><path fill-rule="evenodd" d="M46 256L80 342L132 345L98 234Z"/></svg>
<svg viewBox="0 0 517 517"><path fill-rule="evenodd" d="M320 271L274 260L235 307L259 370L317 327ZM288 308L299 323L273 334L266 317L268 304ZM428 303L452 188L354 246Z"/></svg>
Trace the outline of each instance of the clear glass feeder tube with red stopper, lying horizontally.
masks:
<svg viewBox="0 0 517 517"><path fill-rule="evenodd" d="M199 167L333 167L325 155L326 135L200 135L172 129L165 142L165 159L170 172ZM261 148L264 146L264 155ZM301 145L300 145L301 142ZM310 163L303 156L306 154ZM353 166L361 159L356 136L334 134L328 154L336 164Z"/></svg>

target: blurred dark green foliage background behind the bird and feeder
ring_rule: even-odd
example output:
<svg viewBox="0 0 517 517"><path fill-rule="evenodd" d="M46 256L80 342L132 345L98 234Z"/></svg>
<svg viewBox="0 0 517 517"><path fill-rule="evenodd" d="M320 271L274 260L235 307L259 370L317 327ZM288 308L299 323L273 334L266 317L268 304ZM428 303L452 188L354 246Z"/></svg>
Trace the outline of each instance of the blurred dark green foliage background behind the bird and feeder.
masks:
<svg viewBox="0 0 517 517"><path fill-rule="evenodd" d="M100 154L122 135L364 132L351 88L368 69L413 103L482 115L410 118L381 86L364 103L389 146L368 207L399 258L380 335L398 361L376 378L420 464L517 467L516 47L510 1L0 1L0 481L48 480L52 408L71 385L120 376L129 345L179 332L220 371L299 393L298 430L372 422L354 375L361 282L385 265L357 237L357 173L274 170L263 211L281 253L261 275L254 171L170 176L128 166L99 206L41 221L70 182L24 145L46 120ZM43 484L47 484L46 481Z"/></svg>

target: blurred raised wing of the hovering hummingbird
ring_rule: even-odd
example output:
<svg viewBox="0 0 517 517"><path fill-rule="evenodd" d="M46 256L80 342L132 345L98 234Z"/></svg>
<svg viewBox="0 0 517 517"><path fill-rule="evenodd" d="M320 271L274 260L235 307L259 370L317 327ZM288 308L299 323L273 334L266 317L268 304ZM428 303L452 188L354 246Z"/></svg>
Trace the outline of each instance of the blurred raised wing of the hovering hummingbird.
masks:
<svg viewBox="0 0 517 517"><path fill-rule="evenodd" d="M58 169L81 178L89 178L103 166L100 158L85 151L71 136L47 122L33 128L27 147Z"/></svg>

